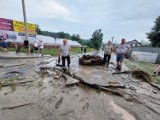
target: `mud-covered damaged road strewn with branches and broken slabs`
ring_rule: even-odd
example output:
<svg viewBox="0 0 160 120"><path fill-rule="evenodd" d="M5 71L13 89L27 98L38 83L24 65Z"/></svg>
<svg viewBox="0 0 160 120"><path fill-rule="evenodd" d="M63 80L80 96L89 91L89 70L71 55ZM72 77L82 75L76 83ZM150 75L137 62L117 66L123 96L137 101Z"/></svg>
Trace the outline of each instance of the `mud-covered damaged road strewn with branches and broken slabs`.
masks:
<svg viewBox="0 0 160 120"><path fill-rule="evenodd" d="M55 58L1 61L0 66L8 67L0 70L0 118L159 120L159 85L131 74L113 75L113 64L79 65L80 57L71 58L70 70L56 66Z"/></svg>

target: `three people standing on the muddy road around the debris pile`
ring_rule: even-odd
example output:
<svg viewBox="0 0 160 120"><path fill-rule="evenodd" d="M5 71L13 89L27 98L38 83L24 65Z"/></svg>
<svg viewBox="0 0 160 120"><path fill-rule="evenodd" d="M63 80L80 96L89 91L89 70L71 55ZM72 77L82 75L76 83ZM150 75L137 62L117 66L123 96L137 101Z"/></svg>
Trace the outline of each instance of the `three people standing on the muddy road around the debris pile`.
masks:
<svg viewBox="0 0 160 120"><path fill-rule="evenodd" d="M114 49L112 46L112 42L108 41L105 50L104 50L104 58L103 58L103 63L106 63L106 59L107 59L107 66L109 65L109 61L111 58L111 54L114 51L117 54L117 67L116 69L121 70L122 68L122 62L124 59L125 54L127 53L127 51L130 50L130 47L125 44L126 40L125 38L123 38L121 40L121 44L117 45ZM67 39L63 40L63 45L60 46L59 48L59 58L62 58L62 66L65 66L65 59L67 60L67 65L68 68L70 67L70 54L71 54L71 47L67 44Z"/></svg>

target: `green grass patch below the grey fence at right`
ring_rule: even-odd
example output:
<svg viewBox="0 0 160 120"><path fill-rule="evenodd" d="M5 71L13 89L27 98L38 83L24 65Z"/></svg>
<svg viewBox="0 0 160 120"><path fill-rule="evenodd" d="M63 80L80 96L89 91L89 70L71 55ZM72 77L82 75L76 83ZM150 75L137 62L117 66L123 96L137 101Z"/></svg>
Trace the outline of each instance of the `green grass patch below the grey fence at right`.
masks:
<svg viewBox="0 0 160 120"><path fill-rule="evenodd" d="M157 64L152 64L144 61L132 61L128 59L125 59L124 63L131 70L140 69L149 73L150 75L153 74L155 68L157 67ZM152 77L152 79L153 82L160 84L160 76Z"/></svg>

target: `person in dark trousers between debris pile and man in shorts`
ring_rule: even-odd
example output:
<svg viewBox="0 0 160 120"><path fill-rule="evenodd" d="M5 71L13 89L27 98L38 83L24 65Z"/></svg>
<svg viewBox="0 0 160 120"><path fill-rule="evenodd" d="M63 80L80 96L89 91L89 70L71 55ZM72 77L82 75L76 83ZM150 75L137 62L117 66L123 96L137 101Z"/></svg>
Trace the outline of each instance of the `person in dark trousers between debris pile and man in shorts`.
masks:
<svg viewBox="0 0 160 120"><path fill-rule="evenodd" d="M104 57L103 57L103 64L106 63L106 58L107 58L107 67L109 65L109 61L111 59L111 54L112 54L112 42L109 40L106 47L104 48Z"/></svg>

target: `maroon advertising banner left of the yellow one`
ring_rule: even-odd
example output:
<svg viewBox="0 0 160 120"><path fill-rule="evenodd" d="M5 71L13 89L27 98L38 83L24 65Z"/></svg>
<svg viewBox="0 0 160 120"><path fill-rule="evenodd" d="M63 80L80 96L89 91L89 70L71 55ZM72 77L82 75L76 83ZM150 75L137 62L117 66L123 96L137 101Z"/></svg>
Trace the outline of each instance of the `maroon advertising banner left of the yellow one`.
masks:
<svg viewBox="0 0 160 120"><path fill-rule="evenodd" d="M13 31L13 20L0 18L0 30Z"/></svg>

